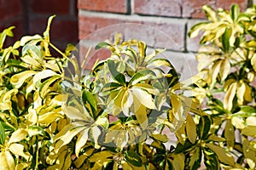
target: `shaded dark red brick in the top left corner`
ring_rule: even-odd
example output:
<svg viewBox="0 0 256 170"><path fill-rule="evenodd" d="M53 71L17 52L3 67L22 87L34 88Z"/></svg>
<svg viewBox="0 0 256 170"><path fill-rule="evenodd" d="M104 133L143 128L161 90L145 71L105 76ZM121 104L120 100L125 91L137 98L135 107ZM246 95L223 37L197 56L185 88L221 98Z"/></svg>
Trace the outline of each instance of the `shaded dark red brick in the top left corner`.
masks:
<svg viewBox="0 0 256 170"><path fill-rule="evenodd" d="M20 15L21 10L20 0L0 1L0 21Z"/></svg>

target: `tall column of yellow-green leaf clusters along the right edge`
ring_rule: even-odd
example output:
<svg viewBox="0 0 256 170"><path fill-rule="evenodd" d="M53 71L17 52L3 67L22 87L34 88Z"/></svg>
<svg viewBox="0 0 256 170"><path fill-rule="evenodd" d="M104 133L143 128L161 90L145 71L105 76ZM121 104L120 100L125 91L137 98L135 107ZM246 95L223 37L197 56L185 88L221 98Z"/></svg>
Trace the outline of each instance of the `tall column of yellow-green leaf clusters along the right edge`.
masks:
<svg viewBox="0 0 256 170"><path fill-rule="evenodd" d="M190 167L204 158L211 169L255 168L255 8L241 13L237 4L230 11L203 6L207 21L189 31L190 37L201 34L196 59L202 81L195 96L207 99L207 116L196 125L200 144L183 150L192 153Z"/></svg>

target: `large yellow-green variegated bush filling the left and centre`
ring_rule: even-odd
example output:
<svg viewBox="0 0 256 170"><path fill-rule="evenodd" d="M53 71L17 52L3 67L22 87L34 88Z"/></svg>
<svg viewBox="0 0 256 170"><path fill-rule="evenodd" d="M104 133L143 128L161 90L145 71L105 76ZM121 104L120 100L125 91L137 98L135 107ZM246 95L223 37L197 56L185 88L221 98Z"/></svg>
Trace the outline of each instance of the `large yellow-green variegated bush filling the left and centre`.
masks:
<svg viewBox="0 0 256 170"><path fill-rule="evenodd" d="M49 41L52 19L43 36L22 37L9 48L3 42L13 27L0 35L1 169L183 169L183 152L166 148L163 130L182 127L179 141L195 143L189 112L200 111L183 95L189 83L156 57L164 50L148 54L145 42L118 33L96 46L109 48L111 57L83 74L76 48L61 52ZM187 116L192 128L184 126Z"/></svg>

